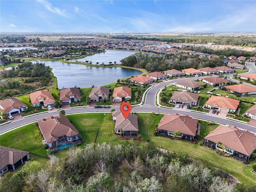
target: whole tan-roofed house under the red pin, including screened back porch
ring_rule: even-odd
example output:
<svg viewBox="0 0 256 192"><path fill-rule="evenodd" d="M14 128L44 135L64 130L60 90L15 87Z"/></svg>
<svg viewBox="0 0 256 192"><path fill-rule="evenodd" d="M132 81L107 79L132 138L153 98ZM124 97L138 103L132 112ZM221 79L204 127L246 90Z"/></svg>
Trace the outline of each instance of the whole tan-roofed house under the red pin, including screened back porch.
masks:
<svg viewBox="0 0 256 192"><path fill-rule="evenodd" d="M115 133L124 136L125 138L137 138L139 134L138 116L129 114L127 119L120 112L114 111L112 116L115 116ZM113 118L114 120L114 118Z"/></svg>

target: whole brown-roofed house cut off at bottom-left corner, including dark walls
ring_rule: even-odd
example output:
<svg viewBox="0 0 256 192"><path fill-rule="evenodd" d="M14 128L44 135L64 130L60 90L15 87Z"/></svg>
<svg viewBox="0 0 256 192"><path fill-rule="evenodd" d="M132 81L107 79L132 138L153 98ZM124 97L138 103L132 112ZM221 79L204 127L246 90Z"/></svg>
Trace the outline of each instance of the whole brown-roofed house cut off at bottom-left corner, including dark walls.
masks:
<svg viewBox="0 0 256 192"><path fill-rule="evenodd" d="M16 170L27 160L29 160L29 152L0 146L0 175L8 170Z"/></svg>

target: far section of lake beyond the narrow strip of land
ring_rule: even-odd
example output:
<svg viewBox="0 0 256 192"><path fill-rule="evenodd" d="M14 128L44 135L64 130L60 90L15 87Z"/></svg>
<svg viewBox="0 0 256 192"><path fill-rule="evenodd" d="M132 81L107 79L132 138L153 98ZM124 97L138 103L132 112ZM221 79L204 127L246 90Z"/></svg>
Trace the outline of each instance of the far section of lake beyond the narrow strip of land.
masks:
<svg viewBox="0 0 256 192"><path fill-rule="evenodd" d="M136 53L134 51L120 51L120 50L105 50L106 52L96 53L91 56L86 56L85 58L81 59L70 59L71 62L85 62L85 61L92 61L92 64L96 65L96 62L99 62L99 65L104 62L105 65L109 64L109 62L116 61L116 64L120 64L120 60Z"/></svg>

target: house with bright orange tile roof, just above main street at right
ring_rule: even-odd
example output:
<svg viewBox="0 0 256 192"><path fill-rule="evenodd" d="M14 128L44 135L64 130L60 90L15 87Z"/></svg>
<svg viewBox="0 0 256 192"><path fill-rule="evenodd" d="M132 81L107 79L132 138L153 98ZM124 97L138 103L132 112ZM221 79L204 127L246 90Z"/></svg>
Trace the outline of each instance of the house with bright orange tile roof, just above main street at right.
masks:
<svg viewBox="0 0 256 192"><path fill-rule="evenodd" d="M210 109L226 110L227 112L236 112L239 105L239 100L223 97L211 96L205 103L205 106Z"/></svg>

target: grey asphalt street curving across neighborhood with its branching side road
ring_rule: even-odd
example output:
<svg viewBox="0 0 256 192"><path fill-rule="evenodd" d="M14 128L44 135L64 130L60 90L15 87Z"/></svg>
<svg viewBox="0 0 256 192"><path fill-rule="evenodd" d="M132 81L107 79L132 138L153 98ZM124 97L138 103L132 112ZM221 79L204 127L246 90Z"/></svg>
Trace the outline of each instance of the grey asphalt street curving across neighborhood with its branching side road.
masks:
<svg viewBox="0 0 256 192"><path fill-rule="evenodd" d="M251 69L250 73L256 73L256 67L253 64L248 64L248 67ZM170 84L173 84L175 82L181 81L181 80L190 80L190 79L202 79L205 77L199 77L199 78L181 78L181 79L174 79L174 80L167 80L166 82L155 84L152 86L152 88L146 93L145 97L145 103L142 106L136 106L132 108L132 111L134 112L159 112L159 113L178 113L180 115L188 115L192 116L194 118L199 118L202 120L209 120L218 122L221 124L227 124L231 126L236 126L238 128L246 129L251 132L256 133L256 126L251 126L245 123L236 122L233 120L228 120L226 118L220 118L217 116L212 116L208 114L200 114L196 112L190 112L190 111L184 111L181 109L169 109L169 108L162 108L156 106L156 93L158 90L163 88L164 86L168 86ZM115 110L120 110L119 107L112 107ZM111 109L106 108L93 108L93 107L82 107L82 108L71 108L66 109L66 114L74 114L74 113L81 113L81 112L110 112ZM35 122L37 120L40 120L42 118L46 118L48 116L55 116L58 115L59 111L49 111L47 113L38 114L30 117L23 118L21 120L13 121L9 124L5 124L0 126L0 134L4 134L3 132L6 132L7 130L12 130L13 128L19 128L24 124L28 124L30 122Z"/></svg>

